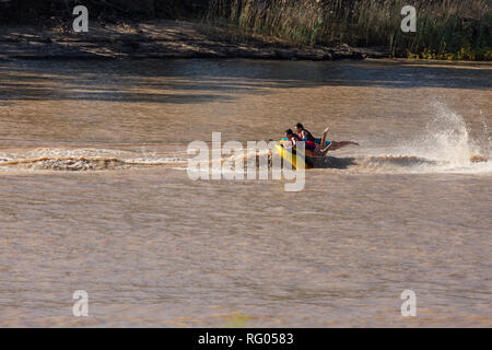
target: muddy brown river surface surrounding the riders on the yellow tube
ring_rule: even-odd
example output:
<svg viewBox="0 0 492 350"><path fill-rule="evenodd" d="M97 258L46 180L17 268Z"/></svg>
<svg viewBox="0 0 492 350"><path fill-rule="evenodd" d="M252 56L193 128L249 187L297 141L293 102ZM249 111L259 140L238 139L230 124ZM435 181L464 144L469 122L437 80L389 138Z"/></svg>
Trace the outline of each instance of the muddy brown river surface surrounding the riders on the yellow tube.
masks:
<svg viewBox="0 0 492 350"><path fill-rule="evenodd" d="M491 327L491 81L487 63L0 62L0 326ZM194 140L297 121L361 147L298 192L186 172Z"/></svg>

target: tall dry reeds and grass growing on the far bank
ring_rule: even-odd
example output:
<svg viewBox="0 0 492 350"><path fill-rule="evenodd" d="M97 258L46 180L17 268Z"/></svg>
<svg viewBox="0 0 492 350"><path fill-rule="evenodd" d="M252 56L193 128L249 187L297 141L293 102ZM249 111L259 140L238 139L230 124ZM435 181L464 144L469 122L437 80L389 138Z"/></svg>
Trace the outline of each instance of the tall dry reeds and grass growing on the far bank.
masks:
<svg viewBox="0 0 492 350"><path fill-rule="evenodd" d="M403 5L417 33L400 30ZM295 45L385 46L397 57L491 60L490 0L211 0L207 20Z"/></svg>

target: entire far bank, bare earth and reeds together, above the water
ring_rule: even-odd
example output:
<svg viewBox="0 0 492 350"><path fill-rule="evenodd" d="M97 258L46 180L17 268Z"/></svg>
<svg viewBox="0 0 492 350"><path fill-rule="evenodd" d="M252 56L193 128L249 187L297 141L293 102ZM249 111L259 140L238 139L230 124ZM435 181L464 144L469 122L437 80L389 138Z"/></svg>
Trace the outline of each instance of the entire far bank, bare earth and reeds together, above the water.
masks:
<svg viewBox="0 0 492 350"><path fill-rule="evenodd" d="M89 33L71 28L84 4ZM417 9L417 33L400 28ZM490 0L0 0L0 60L492 60Z"/></svg>

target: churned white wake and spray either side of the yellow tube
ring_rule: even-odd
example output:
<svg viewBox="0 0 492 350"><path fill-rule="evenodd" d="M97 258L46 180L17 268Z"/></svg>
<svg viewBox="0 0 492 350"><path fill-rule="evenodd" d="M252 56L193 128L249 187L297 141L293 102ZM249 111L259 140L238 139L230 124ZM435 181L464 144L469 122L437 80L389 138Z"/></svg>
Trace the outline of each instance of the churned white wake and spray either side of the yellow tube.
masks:
<svg viewBox="0 0 492 350"><path fill-rule="evenodd" d="M461 116L443 104L436 104L435 109L435 116L419 137L412 140L403 140L398 145L365 152L361 148L356 151L362 153L343 156L345 152L353 151L347 148L343 152L329 153L326 158L314 160L314 165L316 168L340 171L347 174L492 174L492 138L487 122L483 120L482 130L476 132L478 136L473 139ZM233 167L237 161L243 161L246 171L251 162L258 166L259 158L265 155L268 155L268 164L271 166L272 152L267 150L224 156L222 168ZM186 150L174 150L171 153L161 150L160 154L149 153L144 148L139 151L47 148L17 153L0 152L1 171L14 168L83 172L156 165L173 165L174 168L186 170L187 162Z"/></svg>

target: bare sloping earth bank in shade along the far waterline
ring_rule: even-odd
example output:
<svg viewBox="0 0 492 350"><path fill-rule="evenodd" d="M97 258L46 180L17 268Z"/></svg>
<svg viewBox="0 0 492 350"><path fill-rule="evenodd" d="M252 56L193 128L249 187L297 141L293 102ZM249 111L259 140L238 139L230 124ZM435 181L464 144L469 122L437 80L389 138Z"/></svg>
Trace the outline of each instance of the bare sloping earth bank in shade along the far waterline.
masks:
<svg viewBox="0 0 492 350"><path fill-rule="evenodd" d="M231 38L226 27L154 20L91 23L87 33L67 26L0 26L0 60L15 59L142 59L253 58L340 60L386 58L378 48L348 45L300 47L281 39Z"/></svg>

